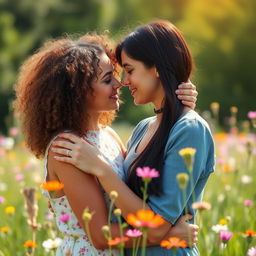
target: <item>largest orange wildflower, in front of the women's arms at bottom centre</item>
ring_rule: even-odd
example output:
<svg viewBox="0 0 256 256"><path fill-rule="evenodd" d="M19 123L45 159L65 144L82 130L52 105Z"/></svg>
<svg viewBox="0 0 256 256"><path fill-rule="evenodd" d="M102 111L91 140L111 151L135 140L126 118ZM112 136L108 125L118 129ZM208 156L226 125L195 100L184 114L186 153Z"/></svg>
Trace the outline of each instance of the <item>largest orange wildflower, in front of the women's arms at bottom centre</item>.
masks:
<svg viewBox="0 0 256 256"><path fill-rule="evenodd" d="M139 210L136 215L128 214L127 222L137 228L156 228L164 223L164 219L160 215L154 214L151 210Z"/></svg>

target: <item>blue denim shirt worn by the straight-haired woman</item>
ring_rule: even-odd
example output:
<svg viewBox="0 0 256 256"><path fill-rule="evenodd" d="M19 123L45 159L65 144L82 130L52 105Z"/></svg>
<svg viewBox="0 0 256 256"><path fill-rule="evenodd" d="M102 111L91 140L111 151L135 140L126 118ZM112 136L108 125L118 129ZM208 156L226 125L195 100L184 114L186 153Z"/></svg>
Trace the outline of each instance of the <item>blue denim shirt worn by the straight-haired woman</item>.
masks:
<svg viewBox="0 0 256 256"><path fill-rule="evenodd" d="M136 148L147 131L148 124L155 117L142 120L134 129L127 147L127 156L124 161L124 171L126 178L127 170L130 164L137 157ZM193 166L193 183L191 189L190 183L186 189L186 204L188 212L195 215L192 209L194 194L195 201L201 201L202 194L210 173L214 171L215 154L214 142L207 122L195 111L190 110L181 115L178 121L172 127L164 151L164 166L161 173L163 181L163 193L160 196L149 196L148 205L151 209L161 215L165 220L175 224L177 219L184 214L185 203L182 191L176 180L176 175L181 172L188 173L184 160L179 155L183 148L195 148L196 154ZM194 222L194 218L191 223ZM131 250L126 250L126 255L132 255ZM160 246L147 248L147 256L173 255L171 250ZM177 256L181 255L199 255L196 247L179 248Z"/></svg>

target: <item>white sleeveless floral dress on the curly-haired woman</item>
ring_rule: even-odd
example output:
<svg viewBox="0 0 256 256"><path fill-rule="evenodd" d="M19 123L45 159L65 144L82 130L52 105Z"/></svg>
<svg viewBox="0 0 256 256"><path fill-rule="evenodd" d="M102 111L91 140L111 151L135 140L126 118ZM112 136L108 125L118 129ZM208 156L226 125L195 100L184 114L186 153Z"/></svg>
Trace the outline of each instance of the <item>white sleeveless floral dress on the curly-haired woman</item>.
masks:
<svg viewBox="0 0 256 256"><path fill-rule="evenodd" d="M97 131L88 131L85 135L86 139L92 142L100 150L102 155L104 155L107 162L110 164L112 169L124 179L123 172L123 155L121 148L113 136L107 131L107 128L102 128ZM47 177L47 157L48 150L51 143L49 144L44 159L44 180ZM51 208L54 211L55 220L57 227L61 233L63 233L64 238L61 245L58 247L56 256L64 256L65 253L70 250L72 256L91 256L91 255L101 255L110 256L109 251L97 250L89 242L89 239L84 232L84 230L79 225L79 222L72 211L66 196L59 198L50 198L48 191L43 191L43 194L49 199ZM104 194L107 206L109 205L109 198ZM59 219L62 215L68 214L70 220L68 223L63 223ZM112 250L112 255L117 256L118 251Z"/></svg>

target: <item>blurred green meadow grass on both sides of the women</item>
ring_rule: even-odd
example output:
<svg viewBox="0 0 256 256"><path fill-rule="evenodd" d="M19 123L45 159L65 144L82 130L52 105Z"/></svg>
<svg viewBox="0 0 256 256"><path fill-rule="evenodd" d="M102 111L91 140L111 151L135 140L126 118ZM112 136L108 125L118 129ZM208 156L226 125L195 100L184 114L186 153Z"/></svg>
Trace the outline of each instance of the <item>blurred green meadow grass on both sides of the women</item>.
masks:
<svg viewBox="0 0 256 256"><path fill-rule="evenodd" d="M121 135L123 141L129 138L131 127L116 125L114 127ZM243 136L222 135L216 140L217 160L216 171L211 175L204 193L204 201L211 203L211 209L197 215L197 223L201 224L198 247L203 256L246 255L249 247L256 246L255 238L251 243L241 234L246 230L256 230L256 138L245 134ZM250 141L254 154L248 161L246 141ZM32 160L31 160L32 159ZM20 192L24 187L34 187L38 198L38 223L37 248L35 255L51 255L45 252L42 242L48 238L60 236L56 231L54 221L47 220L47 200L41 195L40 183L42 181L42 163L34 161L34 157L24 148L22 143L15 147L0 152L0 197L5 198L0 203L0 229L9 227L4 233L0 230L0 256L25 255L23 244L32 239L32 231L27 224L27 215L24 208L24 198ZM223 169L229 170L228 172ZM24 179L16 181L15 175L22 173ZM242 176L251 177L250 184L241 182ZM244 206L244 200L252 200L253 205ZM5 213L7 206L14 206L16 211L12 216ZM219 223L220 219L228 220L228 230L234 236L228 246L221 250L219 235L212 231L212 226Z"/></svg>

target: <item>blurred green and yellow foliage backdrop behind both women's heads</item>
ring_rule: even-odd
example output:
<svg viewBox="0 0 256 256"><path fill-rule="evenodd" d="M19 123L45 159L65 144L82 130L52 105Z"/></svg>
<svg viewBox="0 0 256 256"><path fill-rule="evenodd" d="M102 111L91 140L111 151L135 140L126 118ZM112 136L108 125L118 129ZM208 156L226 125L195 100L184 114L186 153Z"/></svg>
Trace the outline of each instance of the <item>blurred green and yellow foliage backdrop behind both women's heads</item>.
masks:
<svg viewBox="0 0 256 256"><path fill-rule="evenodd" d="M255 110L255 0L0 0L0 130L13 125L11 100L19 66L49 39L108 29L119 40L152 19L168 19L187 39L196 63L200 110L220 102L246 118ZM134 107L127 89L118 121L136 123L151 107Z"/></svg>

